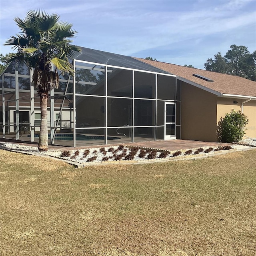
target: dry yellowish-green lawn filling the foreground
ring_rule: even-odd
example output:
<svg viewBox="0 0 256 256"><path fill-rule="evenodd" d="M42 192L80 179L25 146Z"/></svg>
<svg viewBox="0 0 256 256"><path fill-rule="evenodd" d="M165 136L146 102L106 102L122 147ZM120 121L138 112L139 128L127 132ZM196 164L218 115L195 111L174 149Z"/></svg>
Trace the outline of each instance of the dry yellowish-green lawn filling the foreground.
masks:
<svg viewBox="0 0 256 256"><path fill-rule="evenodd" d="M252 256L256 150L75 169L0 150L0 255Z"/></svg>

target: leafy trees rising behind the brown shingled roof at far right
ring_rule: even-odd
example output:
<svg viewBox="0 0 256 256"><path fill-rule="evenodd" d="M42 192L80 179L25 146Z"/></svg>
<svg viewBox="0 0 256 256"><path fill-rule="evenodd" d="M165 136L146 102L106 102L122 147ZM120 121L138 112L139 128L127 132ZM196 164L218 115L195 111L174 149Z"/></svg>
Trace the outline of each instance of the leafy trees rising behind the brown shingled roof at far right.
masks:
<svg viewBox="0 0 256 256"><path fill-rule="evenodd" d="M256 51L250 54L246 46L232 44L224 57L218 52L206 60L204 68L256 81Z"/></svg>

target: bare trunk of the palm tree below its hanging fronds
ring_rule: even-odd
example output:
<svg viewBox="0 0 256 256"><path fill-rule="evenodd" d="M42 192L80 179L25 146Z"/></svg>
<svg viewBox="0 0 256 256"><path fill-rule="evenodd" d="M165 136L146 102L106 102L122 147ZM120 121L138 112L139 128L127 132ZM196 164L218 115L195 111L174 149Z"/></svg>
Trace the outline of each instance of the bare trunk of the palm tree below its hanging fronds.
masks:
<svg viewBox="0 0 256 256"><path fill-rule="evenodd" d="M48 92L39 92L40 108L41 108L41 124L39 134L39 151L48 150L48 127L47 127L47 100Z"/></svg>

